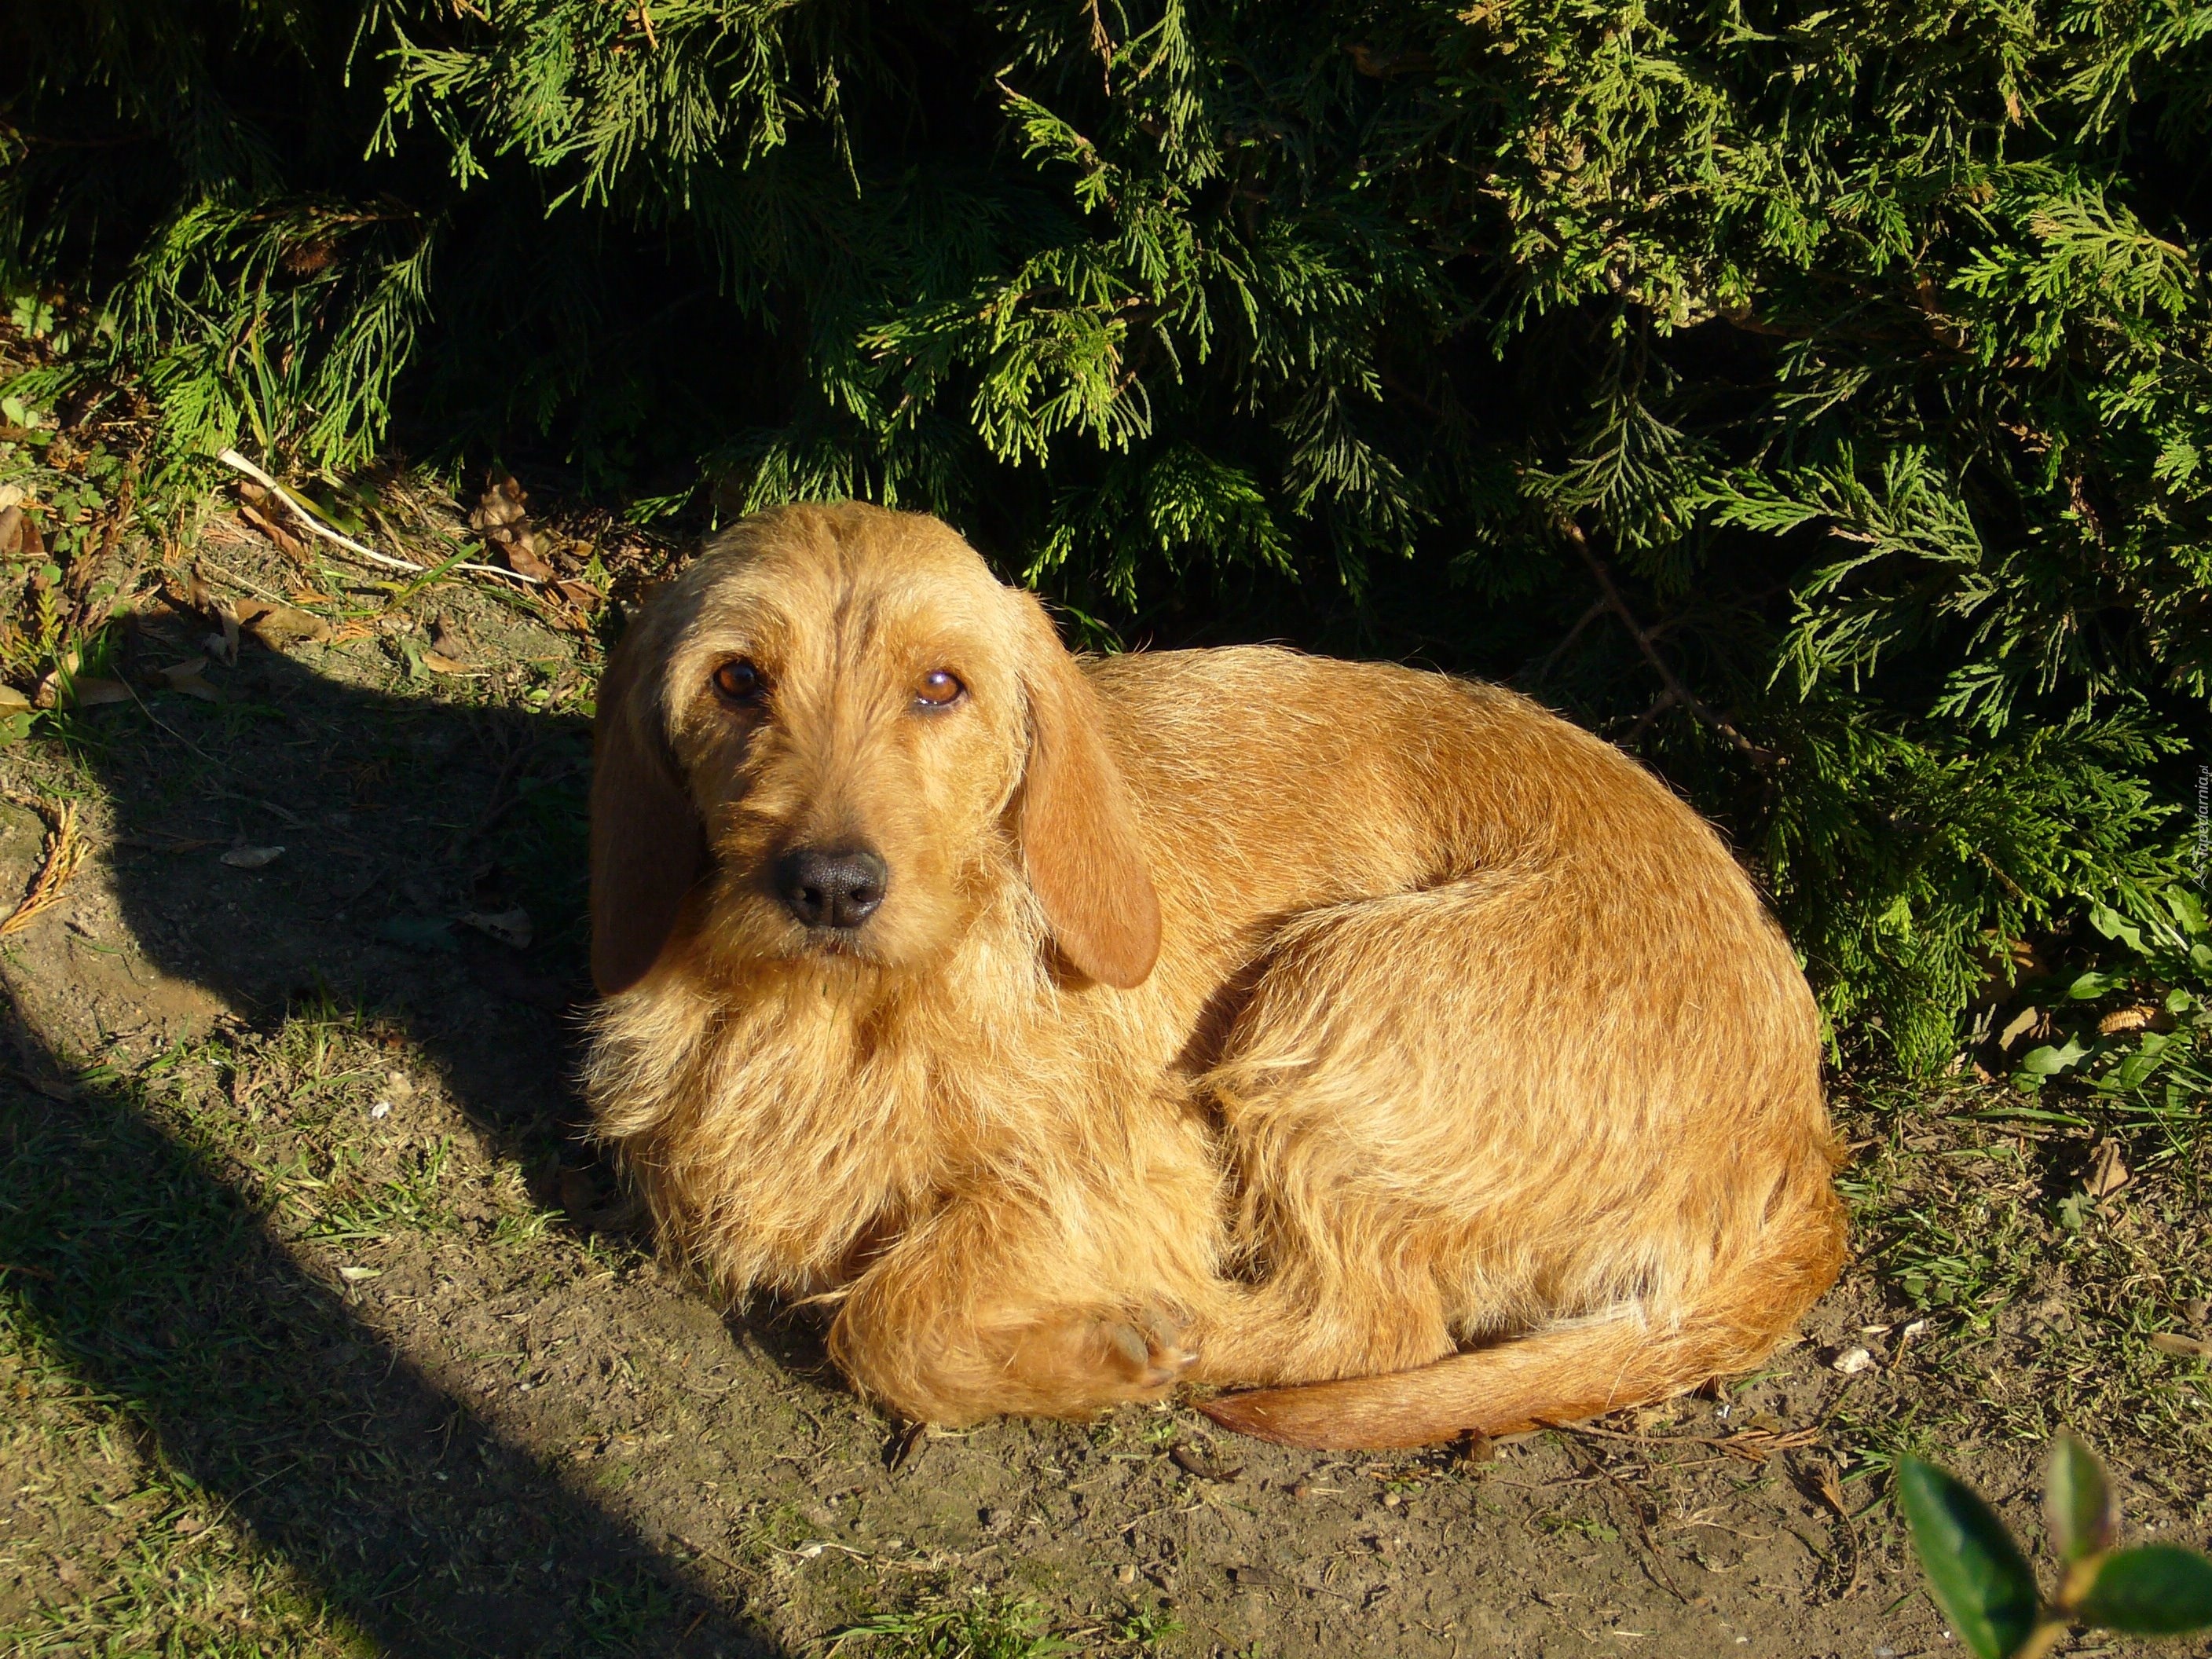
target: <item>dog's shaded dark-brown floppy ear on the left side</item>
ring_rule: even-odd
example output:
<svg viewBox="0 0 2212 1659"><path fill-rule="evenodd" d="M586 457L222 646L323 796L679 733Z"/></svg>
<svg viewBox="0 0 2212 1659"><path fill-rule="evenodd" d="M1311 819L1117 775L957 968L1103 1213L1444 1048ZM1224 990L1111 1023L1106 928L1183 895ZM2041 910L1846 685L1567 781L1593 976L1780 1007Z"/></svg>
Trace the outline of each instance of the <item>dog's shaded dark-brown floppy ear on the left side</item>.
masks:
<svg viewBox="0 0 2212 1659"><path fill-rule="evenodd" d="M591 980L628 991L659 960L684 896L708 867L653 697L653 630L633 626L599 679L591 745Z"/></svg>

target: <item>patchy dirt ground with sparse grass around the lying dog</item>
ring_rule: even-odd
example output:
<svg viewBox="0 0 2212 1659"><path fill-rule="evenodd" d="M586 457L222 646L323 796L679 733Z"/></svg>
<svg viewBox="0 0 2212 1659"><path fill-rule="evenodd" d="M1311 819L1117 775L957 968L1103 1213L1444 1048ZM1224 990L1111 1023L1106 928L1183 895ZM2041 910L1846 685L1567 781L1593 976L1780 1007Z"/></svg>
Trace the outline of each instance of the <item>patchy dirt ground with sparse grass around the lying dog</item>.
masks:
<svg viewBox="0 0 2212 1659"><path fill-rule="evenodd" d="M2212 1542L2208 1367L2148 1343L2212 1296L2205 1148L2115 1130L2088 1197L2110 1126L2002 1088L1840 1091L1860 1259L1714 1398L1486 1462L900 1436L655 1265L582 1135L591 637L197 553L352 637L155 690L210 624L146 599L131 699L0 754L0 911L64 803L88 847L0 938L0 1650L1953 1652L1889 1462L2035 1535L2059 1420L2132 1535Z"/></svg>

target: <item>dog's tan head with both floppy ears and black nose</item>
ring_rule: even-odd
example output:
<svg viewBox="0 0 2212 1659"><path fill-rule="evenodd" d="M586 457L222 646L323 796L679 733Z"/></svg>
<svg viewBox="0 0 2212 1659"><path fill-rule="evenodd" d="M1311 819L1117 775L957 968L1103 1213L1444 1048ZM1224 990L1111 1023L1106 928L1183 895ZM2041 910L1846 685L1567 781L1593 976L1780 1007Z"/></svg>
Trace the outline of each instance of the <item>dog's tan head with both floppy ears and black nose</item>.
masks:
<svg viewBox="0 0 2212 1659"><path fill-rule="evenodd" d="M1159 905L1091 684L938 520L761 513L624 635L591 785L602 993L686 914L717 960L920 971L1009 878L1084 975L1152 971Z"/></svg>

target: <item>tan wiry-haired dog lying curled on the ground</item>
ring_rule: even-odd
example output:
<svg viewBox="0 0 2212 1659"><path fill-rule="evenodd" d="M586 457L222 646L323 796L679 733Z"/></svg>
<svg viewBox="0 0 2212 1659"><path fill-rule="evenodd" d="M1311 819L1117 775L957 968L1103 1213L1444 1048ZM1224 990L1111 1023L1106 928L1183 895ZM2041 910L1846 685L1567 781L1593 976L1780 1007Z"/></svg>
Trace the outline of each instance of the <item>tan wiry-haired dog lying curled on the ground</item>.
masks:
<svg viewBox="0 0 2212 1659"><path fill-rule="evenodd" d="M644 608L597 745L602 1133L907 1418L1181 1380L1310 1447L1509 1433L1750 1367L1836 1276L1790 947L1522 697L1079 661L945 524L794 507Z"/></svg>

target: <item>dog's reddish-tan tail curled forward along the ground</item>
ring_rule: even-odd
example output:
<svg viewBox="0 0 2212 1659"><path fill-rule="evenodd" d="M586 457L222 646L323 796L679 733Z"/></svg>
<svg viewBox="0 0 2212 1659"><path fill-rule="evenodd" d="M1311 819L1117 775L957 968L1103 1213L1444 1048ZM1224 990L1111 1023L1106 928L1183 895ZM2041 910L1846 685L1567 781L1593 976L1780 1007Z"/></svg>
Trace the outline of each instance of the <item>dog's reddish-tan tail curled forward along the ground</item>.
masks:
<svg viewBox="0 0 2212 1659"><path fill-rule="evenodd" d="M1413 1371L1223 1394L1199 1409L1237 1433L1352 1451L1495 1438L1666 1400L1750 1369L1820 1298L1843 1265L1840 1206L1829 1199L1787 1239L1761 1243L1767 1254L1708 1281L1699 1307L1666 1325L1628 1307Z"/></svg>

